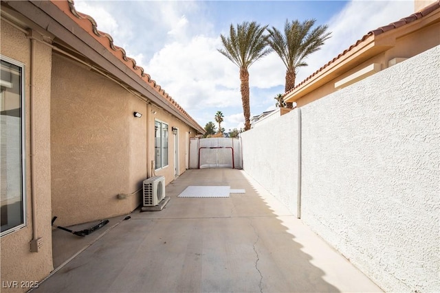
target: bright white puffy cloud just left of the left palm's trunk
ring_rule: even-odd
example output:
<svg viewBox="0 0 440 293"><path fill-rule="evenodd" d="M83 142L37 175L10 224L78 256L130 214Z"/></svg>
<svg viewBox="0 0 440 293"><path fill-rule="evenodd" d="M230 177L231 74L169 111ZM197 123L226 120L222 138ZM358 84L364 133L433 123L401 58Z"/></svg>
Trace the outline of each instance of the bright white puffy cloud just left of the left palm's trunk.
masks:
<svg viewBox="0 0 440 293"><path fill-rule="evenodd" d="M150 60L148 73L184 108L240 106L238 69L219 47L219 38L202 35L169 43Z"/></svg>

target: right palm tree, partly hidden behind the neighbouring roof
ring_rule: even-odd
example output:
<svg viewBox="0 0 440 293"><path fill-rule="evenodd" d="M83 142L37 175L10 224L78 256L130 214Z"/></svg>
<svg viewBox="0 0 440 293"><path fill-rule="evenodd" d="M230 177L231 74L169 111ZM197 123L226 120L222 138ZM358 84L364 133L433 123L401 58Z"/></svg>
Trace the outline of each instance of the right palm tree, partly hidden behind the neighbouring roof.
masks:
<svg viewBox="0 0 440 293"><path fill-rule="evenodd" d="M269 45L276 51L276 54L283 60L287 68L285 78L285 91L293 89L295 86L296 71L298 67L307 66L305 58L318 51L324 41L330 38L331 32L326 32L327 25L319 25L311 30L316 19L309 19L300 23L298 20L286 20L284 34L275 27L269 32ZM290 103L289 103L290 104Z"/></svg>

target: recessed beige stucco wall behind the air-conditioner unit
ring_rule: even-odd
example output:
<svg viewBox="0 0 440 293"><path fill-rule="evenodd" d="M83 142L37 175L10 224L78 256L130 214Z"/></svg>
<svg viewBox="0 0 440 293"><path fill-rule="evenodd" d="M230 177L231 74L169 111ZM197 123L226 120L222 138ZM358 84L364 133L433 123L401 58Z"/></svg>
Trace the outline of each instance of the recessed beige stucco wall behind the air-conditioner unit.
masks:
<svg viewBox="0 0 440 293"><path fill-rule="evenodd" d="M133 211L146 178L146 104L78 62L54 54L52 215L67 226Z"/></svg>

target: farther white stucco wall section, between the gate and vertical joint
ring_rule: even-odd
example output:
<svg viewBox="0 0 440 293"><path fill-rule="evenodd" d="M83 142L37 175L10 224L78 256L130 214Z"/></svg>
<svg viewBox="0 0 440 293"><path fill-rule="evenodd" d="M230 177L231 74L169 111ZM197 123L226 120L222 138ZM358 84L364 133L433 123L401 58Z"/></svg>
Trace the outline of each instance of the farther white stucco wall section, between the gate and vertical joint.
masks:
<svg viewBox="0 0 440 293"><path fill-rule="evenodd" d="M298 113L277 117L241 134L243 169L296 215Z"/></svg>

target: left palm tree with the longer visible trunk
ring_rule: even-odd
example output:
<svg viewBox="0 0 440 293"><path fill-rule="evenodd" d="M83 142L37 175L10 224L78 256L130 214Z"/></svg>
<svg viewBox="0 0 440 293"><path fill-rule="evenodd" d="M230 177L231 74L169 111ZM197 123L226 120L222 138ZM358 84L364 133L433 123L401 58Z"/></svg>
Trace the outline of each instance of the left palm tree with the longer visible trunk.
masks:
<svg viewBox="0 0 440 293"><path fill-rule="evenodd" d="M223 49L218 51L231 60L240 69L241 103L245 117L245 130L250 129L249 104L249 67L256 61L269 54L272 49L267 47L267 35L263 33L267 25L261 27L258 23L243 22L236 28L231 24L229 36L220 35Z"/></svg>

